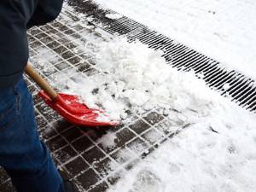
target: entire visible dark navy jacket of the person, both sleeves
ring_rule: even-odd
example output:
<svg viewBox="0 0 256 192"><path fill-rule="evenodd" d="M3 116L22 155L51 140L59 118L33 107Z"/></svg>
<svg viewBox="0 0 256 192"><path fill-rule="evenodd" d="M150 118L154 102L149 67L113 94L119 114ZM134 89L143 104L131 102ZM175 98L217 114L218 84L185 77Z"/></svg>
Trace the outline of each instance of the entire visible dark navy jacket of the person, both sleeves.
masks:
<svg viewBox="0 0 256 192"><path fill-rule="evenodd" d="M0 0L0 91L18 82L28 60L26 29L61 12L63 0Z"/></svg>

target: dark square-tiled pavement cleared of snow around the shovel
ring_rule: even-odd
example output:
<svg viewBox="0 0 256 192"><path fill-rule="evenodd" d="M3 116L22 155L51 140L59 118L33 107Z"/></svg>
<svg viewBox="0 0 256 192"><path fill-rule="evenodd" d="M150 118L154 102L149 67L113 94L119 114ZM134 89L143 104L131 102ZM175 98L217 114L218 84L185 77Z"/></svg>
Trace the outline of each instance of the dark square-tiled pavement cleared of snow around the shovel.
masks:
<svg viewBox="0 0 256 192"><path fill-rule="evenodd" d="M73 69L77 72L73 75L99 73L90 51L94 47L90 38L104 40L103 31L90 24L81 25L81 21L86 23L83 17L63 9L57 21L33 27L28 32L30 60L49 82L57 74ZM173 121L156 110L143 115L131 113L130 123L118 127L70 125L38 98L38 86L31 79L26 80L35 102L40 137L47 143L56 165L67 173L80 191L106 191L121 173L129 171L160 143L188 126L182 120ZM114 132L116 138L115 145L106 148L100 138L108 132ZM15 191L3 170L0 171L0 191Z"/></svg>

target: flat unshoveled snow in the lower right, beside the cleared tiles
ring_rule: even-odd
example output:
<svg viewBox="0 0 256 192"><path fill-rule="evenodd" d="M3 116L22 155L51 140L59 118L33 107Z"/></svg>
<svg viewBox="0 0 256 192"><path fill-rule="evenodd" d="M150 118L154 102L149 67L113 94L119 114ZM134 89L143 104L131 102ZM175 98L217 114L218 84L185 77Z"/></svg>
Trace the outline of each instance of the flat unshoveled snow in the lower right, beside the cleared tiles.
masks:
<svg viewBox="0 0 256 192"><path fill-rule="evenodd" d="M108 192L254 192L255 115L220 102L211 116L164 143Z"/></svg>

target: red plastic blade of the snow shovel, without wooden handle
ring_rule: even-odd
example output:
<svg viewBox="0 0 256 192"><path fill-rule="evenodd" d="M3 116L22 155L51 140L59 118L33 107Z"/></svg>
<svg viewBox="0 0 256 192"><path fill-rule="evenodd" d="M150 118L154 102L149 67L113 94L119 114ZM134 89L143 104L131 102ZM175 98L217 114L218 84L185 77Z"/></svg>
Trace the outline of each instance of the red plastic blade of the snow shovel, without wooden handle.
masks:
<svg viewBox="0 0 256 192"><path fill-rule="evenodd" d="M53 108L64 119L67 119L70 123L80 126L104 126L104 125L119 125L116 121L102 122L97 118L102 114L106 116L102 111L98 109L88 108L84 103L80 102L79 96L72 96L63 93L59 93L52 101L51 98L41 90L38 93L46 104L50 108Z"/></svg>

